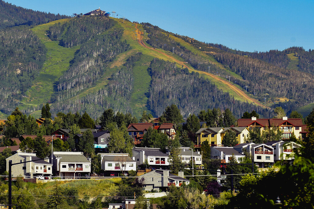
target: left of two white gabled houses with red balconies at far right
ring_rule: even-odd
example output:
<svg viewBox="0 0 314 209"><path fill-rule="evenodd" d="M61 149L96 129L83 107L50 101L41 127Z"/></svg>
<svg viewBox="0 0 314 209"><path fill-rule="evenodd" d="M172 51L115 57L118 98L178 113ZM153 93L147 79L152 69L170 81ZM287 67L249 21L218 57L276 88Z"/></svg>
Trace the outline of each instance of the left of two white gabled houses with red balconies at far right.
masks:
<svg viewBox="0 0 314 209"><path fill-rule="evenodd" d="M270 142L272 143L272 142ZM273 165L274 163L274 153L273 147L267 144L254 144L254 143L243 143L238 144L233 147L235 150L244 154L252 156L254 163L258 164L260 168L264 168L265 164Z"/></svg>

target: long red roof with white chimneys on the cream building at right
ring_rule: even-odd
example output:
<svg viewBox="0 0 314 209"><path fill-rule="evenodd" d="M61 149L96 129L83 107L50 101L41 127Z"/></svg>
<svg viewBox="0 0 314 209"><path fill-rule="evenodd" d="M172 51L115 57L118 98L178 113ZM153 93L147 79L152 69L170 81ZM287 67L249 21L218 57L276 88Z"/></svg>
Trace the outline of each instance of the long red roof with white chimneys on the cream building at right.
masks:
<svg viewBox="0 0 314 209"><path fill-rule="evenodd" d="M269 119L238 119L238 126L239 127L247 127L251 125L252 123L256 122L261 124L261 126L270 127L272 125L274 126L280 126L284 122L291 123L293 126L302 126L302 119L300 118L288 118L287 120L283 120L282 118L269 118Z"/></svg>

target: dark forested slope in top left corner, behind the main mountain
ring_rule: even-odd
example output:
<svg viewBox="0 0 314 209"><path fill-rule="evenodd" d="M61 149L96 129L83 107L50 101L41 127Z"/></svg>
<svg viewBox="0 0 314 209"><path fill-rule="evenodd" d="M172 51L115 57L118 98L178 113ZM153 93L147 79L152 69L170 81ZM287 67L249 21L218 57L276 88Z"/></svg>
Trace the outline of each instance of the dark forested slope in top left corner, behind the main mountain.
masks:
<svg viewBox="0 0 314 209"><path fill-rule="evenodd" d="M0 0L0 29L19 25L40 25L63 18L69 16L25 9Z"/></svg>

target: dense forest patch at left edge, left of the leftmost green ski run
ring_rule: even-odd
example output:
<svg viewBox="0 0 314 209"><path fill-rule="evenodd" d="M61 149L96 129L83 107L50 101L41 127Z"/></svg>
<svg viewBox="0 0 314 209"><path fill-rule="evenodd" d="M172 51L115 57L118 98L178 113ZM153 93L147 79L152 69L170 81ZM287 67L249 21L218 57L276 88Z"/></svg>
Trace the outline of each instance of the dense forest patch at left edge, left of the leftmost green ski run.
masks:
<svg viewBox="0 0 314 209"><path fill-rule="evenodd" d="M46 47L28 26L0 30L0 106L15 106L46 60Z"/></svg>

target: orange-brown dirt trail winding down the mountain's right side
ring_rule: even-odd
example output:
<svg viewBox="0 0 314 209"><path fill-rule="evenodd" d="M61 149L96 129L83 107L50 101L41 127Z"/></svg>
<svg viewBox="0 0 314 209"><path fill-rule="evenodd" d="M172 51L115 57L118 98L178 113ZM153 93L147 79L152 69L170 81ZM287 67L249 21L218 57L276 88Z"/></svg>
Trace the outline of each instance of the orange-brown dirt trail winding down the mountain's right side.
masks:
<svg viewBox="0 0 314 209"><path fill-rule="evenodd" d="M184 62L182 61L179 61L177 60L176 58L164 53L164 52L161 52L159 50L156 50L154 48L150 48L148 46L146 46L142 40L142 34L143 32L140 31L138 28L137 28L137 23L135 24L135 29L136 29L136 33L137 33L137 41L138 41L138 44L142 45L143 47L146 47L148 49L151 49L151 50L154 50L154 51L157 51L158 53L162 54L162 55L165 55L167 57L169 57L171 60L174 60L176 63L179 63L180 65L183 65L184 67L186 67L187 69L190 69L192 71L197 71L198 73L203 73L203 74L206 74L212 78L214 78L215 80L217 81L220 81L222 83L224 83L225 85L229 86L233 91L236 92L237 95L239 95L240 97L242 97L244 100L247 100L248 102L254 102L255 104L259 105L259 106L262 106L262 107L265 107L265 108L269 108L265 105L263 105L262 103L260 103L258 100L256 99L253 99L251 97L249 97L248 95L246 95L246 93L244 93L241 89L239 89L238 87L232 85L230 82L218 77L218 76L215 76L214 74L211 74L211 73L207 73L207 72L204 72L204 71L198 71L198 70L195 70L195 69L192 69L191 67L187 66Z"/></svg>

